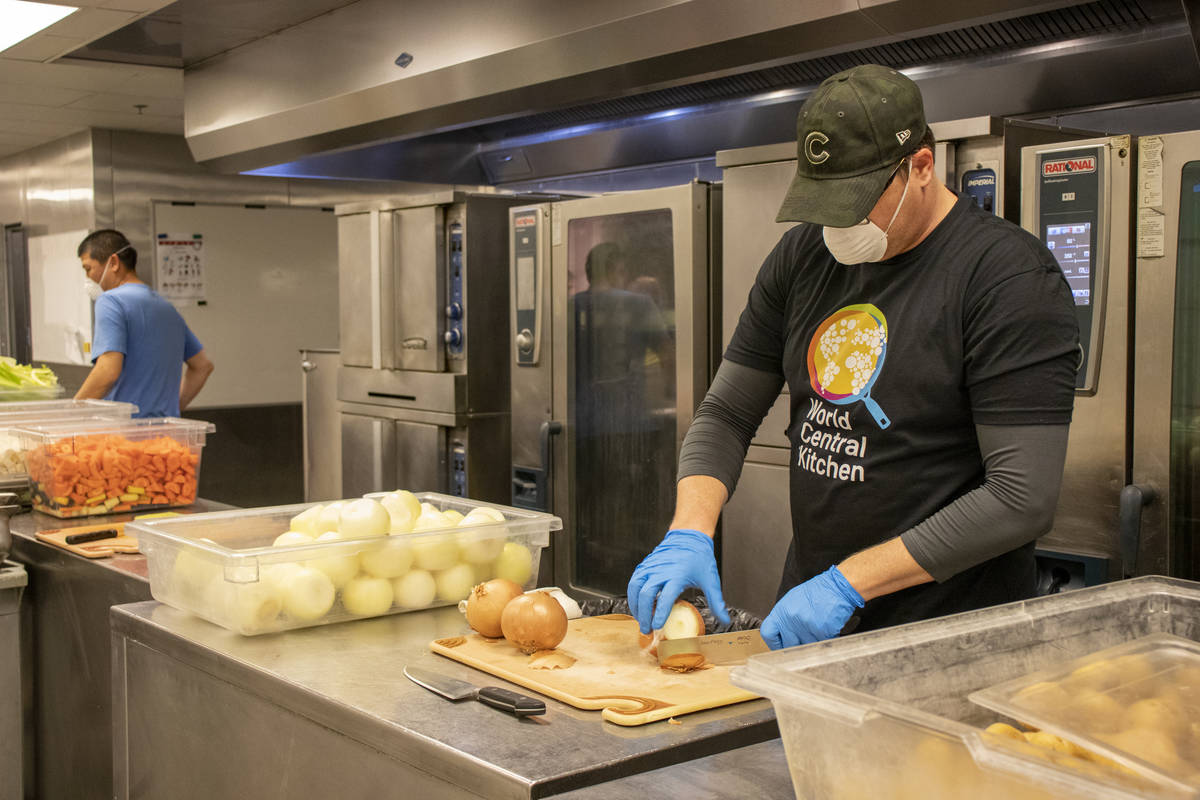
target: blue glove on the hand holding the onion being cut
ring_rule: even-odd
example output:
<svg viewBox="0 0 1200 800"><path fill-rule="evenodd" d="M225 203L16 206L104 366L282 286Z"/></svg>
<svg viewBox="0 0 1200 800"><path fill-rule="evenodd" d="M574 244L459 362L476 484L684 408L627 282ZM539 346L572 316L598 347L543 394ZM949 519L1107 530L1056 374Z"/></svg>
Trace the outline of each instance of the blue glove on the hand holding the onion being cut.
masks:
<svg viewBox="0 0 1200 800"><path fill-rule="evenodd" d="M713 540L698 530L668 530L629 578L625 596L642 633L662 627L674 601L689 587L703 591L713 615L728 624L730 613L721 596L721 576L716 572Z"/></svg>

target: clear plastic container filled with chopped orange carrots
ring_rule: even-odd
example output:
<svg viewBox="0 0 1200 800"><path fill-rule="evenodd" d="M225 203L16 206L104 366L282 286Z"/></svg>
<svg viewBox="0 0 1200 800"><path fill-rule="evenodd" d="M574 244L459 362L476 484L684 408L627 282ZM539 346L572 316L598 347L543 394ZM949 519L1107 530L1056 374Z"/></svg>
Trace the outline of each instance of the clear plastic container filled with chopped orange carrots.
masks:
<svg viewBox="0 0 1200 800"><path fill-rule="evenodd" d="M25 452L34 509L67 518L191 505L214 431L152 417L20 426L12 435Z"/></svg>

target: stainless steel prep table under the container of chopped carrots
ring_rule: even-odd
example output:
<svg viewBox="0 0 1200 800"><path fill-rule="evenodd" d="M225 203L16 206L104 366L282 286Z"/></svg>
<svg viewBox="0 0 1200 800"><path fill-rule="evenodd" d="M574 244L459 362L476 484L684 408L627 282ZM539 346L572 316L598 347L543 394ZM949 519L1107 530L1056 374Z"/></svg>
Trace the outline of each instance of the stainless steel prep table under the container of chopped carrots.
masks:
<svg viewBox="0 0 1200 800"><path fill-rule="evenodd" d="M228 509L198 500L181 512ZM112 637L108 609L150 599L146 559L86 559L47 545L40 530L128 522L132 515L11 521L13 561L29 587L20 603L24 790L38 800L112 798Z"/></svg>

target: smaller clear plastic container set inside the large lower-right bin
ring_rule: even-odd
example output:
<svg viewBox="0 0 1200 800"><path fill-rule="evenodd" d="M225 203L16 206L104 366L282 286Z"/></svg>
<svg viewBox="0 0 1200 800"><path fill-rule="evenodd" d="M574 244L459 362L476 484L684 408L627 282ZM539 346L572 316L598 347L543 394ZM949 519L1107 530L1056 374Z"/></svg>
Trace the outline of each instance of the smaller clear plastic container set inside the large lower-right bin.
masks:
<svg viewBox="0 0 1200 800"><path fill-rule="evenodd" d="M1152 633L970 699L1082 747L1092 760L1176 792L1200 789L1200 644L1190 639Z"/></svg>

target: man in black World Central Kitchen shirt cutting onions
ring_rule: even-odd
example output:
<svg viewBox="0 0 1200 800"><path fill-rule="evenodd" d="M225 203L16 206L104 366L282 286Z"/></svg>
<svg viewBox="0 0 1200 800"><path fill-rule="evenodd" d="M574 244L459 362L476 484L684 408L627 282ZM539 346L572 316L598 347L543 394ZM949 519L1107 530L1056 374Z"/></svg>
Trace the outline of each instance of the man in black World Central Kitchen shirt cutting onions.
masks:
<svg viewBox="0 0 1200 800"><path fill-rule="evenodd" d="M1057 263L937 179L893 70L822 83L797 144L778 219L805 224L767 257L684 440L671 530L629 583L646 632L688 587L727 619L712 536L785 381L793 530L769 645L1034 591L1079 361Z"/></svg>

